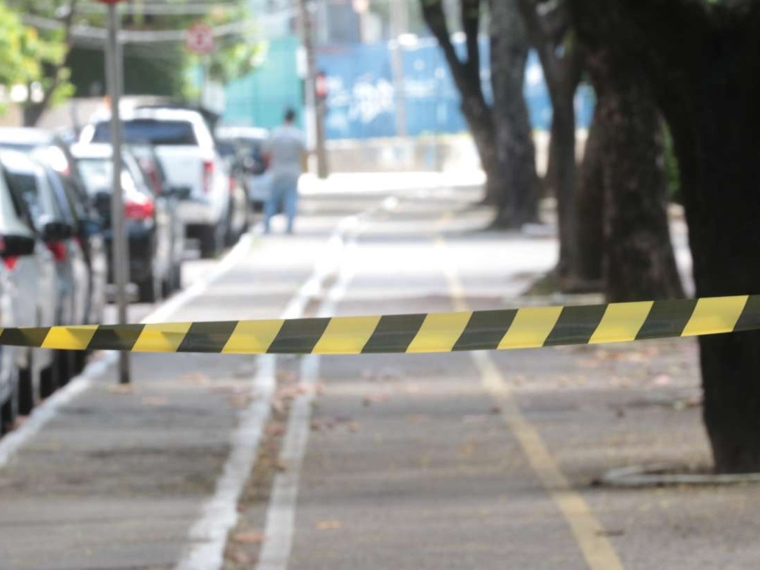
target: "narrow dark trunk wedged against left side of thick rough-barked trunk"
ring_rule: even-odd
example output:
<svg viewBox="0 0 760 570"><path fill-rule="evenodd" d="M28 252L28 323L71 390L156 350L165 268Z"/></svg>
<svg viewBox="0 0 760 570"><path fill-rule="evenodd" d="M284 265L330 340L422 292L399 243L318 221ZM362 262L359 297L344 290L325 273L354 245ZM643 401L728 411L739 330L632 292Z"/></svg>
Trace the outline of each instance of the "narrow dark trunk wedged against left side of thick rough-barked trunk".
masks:
<svg viewBox="0 0 760 570"><path fill-rule="evenodd" d="M578 170L578 185L575 188L575 204L578 213L578 279L587 283L602 282L603 250L603 176L602 155L605 125L599 118L599 105L594 108L594 117L588 129L583 163Z"/></svg>

